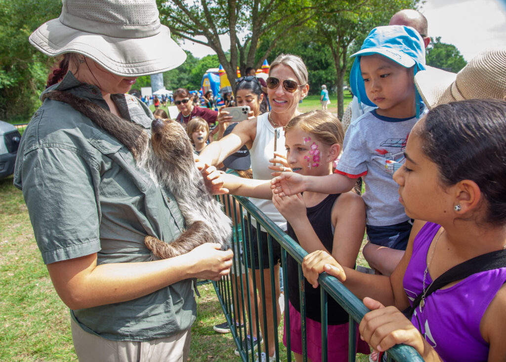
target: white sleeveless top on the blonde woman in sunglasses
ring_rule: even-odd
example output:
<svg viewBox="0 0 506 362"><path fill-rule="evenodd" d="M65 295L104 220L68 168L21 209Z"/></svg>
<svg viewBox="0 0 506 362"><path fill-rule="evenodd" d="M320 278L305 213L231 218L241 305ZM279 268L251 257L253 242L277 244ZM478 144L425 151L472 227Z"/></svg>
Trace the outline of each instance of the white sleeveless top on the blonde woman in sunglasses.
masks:
<svg viewBox="0 0 506 362"><path fill-rule="evenodd" d="M253 178L257 179L272 179L269 169L269 159L274 157L274 135L277 131L276 137L276 152L286 156L284 130L282 127L274 129L267 118L269 113L264 113L257 118L257 135L253 141L253 145L249 150L251 157L251 170L253 171ZM272 200L256 199L250 197L249 200L255 204L267 217L281 228L286 230L286 220L279 213L278 209L272 203ZM262 228L262 231L265 231Z"/></svg>

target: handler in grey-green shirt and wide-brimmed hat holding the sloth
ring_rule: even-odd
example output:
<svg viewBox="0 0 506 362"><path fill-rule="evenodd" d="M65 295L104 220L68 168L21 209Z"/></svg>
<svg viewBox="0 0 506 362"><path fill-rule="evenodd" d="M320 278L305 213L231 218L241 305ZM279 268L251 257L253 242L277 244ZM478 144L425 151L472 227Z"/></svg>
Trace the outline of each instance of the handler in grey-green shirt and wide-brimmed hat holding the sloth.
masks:
<svg viewBox="0 0 506 362"><path fill-rule="evenodd" d="M30 36L44 54L63 54L43 97L76 96L149 132L149 108L125 93L137 77L180 65L184 52L160 25L154 0L83 4L63 0L61 16ZM204 244L153 260L144 237L170 243L184 228L174 196L125 145L65 102L46 99L34 114L14 184L23 190L53 285L70 308L78 359L186 361L196 318L191 278L228 274L232 252Z"/></svg>

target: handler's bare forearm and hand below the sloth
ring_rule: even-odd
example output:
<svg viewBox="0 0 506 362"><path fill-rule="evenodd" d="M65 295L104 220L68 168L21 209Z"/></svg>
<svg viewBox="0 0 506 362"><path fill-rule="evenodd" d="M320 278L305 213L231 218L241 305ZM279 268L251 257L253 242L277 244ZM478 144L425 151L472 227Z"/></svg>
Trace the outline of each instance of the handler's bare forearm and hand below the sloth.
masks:
<svg viewBox="0 0 506 362"><path fill-rule="evenodd" d="M232 251L203 244L170 259L97 265L97 254L48 264L62 301L71 309L139 298L188 278L219 280L230 272Z"/></svg>

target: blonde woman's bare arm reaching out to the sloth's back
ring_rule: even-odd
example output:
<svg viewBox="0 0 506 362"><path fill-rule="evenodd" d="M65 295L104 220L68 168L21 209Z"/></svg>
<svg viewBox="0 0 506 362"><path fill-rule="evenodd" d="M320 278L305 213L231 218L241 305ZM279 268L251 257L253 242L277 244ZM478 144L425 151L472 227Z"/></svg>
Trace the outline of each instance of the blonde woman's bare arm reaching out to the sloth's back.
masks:
<svg viewBox="0 0 506 362"><path fill-rule="evenodd" d="M197 160L208 165L219 165L242 146L246 145L250 149L256 135L257 118L241 121L230 134L227 134L221 140L208 144L197 157Z"/></svg>

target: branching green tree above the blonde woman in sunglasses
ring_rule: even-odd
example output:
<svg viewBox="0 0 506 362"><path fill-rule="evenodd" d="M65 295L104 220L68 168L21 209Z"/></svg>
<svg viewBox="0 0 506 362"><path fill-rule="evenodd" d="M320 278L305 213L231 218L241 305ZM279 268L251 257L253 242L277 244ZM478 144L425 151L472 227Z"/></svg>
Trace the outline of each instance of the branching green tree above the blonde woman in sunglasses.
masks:
<svg viewBox="0 0 506 362"><path fill-rule="evenodd" d="M218 55L235 89L236 69L260 67L276 41L289 34L312 16L310 0L157 0L162 24L179 38L188 39L213 49ZM246 32L244 39L239 34ZM230 57L220 42L220 35L230 38ZM262 58L255 62L257 47L262 36L272 41ZM200 40L203 36L205 40Z"/></svg>

